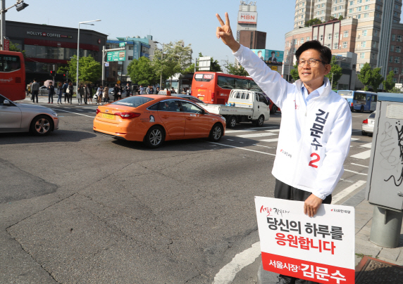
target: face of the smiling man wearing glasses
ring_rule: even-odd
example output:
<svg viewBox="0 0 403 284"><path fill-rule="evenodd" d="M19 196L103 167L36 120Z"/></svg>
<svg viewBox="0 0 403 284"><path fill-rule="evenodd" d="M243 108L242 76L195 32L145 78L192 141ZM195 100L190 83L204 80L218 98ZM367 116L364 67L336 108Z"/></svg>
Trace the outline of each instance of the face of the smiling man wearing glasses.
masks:
<svg viewBox="0 0 403 284"><path fill-rule="evenodd" d="M299 56L299 60L309 59L321 60L321 53L315 49L308 49ZM330 72L330 68L330 64L324 65L318 61L315 66L311 66L308 63L305 63L304 66L298 65L299 78L304 84L321 86L323 77Z"/></svg>

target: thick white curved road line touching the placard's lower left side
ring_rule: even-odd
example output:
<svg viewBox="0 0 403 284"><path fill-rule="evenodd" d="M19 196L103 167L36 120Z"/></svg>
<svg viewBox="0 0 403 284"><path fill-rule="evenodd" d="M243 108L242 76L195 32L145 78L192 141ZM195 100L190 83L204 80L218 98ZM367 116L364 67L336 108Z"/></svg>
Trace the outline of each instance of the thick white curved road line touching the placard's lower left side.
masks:
<svg viewBox="0 0 403 284"><path fill-rule="evenodd" d="M235 255L233 260L225 265L214 277L213 284L230 284L237 273L241 271L245 266L253 264L256 258L261 254L260 242L254 243L249 249L240 252Z"/></svg>

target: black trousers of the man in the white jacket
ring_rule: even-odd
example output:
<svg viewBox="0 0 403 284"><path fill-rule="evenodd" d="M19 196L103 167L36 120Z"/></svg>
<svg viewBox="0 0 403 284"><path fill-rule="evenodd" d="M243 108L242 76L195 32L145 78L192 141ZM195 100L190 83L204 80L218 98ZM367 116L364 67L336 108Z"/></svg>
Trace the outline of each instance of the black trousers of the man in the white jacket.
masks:
<svg viewBox="0 0 403 284"><path fill-rule="evenodd" d="M274 188L274 198L286 199L286 200L295 200L295 201L305 201L312 193L309 191L302 191L298 188L293 188L292 186L283 183L283 181L279 181L275 179L275 188ZM332 203L332 195L326 196L325 200L322 202L323 204ZM298 279L290 276L279 275L281 284L318 284L317 282L312 282L310 280Z"/></svg>

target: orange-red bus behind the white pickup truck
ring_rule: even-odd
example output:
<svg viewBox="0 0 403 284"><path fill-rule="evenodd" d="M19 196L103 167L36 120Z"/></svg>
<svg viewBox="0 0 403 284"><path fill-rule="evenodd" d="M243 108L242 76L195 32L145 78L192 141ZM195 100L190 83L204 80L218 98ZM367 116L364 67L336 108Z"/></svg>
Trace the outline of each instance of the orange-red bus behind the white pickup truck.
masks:
<svg viewBox="0 0 403 284"><path fill-rule="evenodd" d="M220 72L195 72L192 81L192 96L199 98L204 103L225 105L228 102L232 89L244 89L261 91L251 77L236 76ZM266 94L265 94L266 95ZM271 113L278 110L277 106L270 101Z"/></svg>

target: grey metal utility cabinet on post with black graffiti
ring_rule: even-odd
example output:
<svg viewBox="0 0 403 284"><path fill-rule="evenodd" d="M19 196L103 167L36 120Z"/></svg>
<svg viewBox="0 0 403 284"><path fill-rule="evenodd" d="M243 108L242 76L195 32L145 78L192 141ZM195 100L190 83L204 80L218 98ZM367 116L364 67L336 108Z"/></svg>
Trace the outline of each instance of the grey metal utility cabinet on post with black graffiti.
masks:
<svg viewBox="0 0 403 284"><path fill-rule="evenodd" d="M397 247L403 217L402 93L378 93L366 196L376 206L371 242Z"/></svg>

